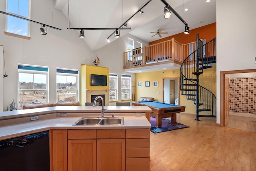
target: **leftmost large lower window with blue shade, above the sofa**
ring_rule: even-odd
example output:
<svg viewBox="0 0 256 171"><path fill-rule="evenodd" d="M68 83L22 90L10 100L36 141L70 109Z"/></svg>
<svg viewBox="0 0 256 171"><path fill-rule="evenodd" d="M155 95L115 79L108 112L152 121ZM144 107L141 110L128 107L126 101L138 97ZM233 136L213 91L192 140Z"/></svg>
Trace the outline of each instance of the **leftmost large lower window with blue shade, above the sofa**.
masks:
<svg viewBox="0 0 256 171"><path fill-rule="evenodd" d="M48 103L48 67L18 65L18 109Z"/></svg>

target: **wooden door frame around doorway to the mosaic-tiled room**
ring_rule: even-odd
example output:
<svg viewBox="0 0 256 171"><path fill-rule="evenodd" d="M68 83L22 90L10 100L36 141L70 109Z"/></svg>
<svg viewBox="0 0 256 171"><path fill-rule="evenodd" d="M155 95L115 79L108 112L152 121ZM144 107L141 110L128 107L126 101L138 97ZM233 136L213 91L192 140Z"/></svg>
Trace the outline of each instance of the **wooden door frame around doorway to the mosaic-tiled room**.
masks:
<svg viewBox="0 0 256 171"><path fill-rule="evenodd" d="M256 72L256 69L249 70L234 70L234 71L221 71L220 72L220 126L224 127L224 97L225 97L225 74L239 74L239 73L247 73L247 72Z"/></svg>

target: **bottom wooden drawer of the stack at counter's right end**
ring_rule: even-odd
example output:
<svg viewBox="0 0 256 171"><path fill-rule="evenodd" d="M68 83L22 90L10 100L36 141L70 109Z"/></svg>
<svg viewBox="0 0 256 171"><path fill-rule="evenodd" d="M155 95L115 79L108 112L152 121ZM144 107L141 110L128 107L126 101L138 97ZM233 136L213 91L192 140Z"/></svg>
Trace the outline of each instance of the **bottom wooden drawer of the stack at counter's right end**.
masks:
<svg viewBox="0 0 256 171"><path fill-rule="evenodd" d="M126 159L126 171L149 171L149 158Z"/></svg>

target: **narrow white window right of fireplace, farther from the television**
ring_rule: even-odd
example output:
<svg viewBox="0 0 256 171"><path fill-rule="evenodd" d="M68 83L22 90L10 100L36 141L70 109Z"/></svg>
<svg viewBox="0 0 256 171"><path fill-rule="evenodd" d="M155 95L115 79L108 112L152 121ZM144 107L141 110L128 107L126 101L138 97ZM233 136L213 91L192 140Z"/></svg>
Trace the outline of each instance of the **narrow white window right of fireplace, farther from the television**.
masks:
<svg viewBox="0 0 256 171"><path fill-rule="evenodd" d="M121 100L131 99L132 76L121 75Z"/></svg>

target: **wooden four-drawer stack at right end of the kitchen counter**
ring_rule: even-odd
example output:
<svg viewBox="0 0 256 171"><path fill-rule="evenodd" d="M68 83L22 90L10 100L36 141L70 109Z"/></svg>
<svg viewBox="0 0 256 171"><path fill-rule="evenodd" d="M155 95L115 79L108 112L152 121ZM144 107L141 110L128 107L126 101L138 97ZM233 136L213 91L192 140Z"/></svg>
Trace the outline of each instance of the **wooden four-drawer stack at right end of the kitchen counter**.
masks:
<svg viewBox="0 0 256 171"><path fill-rule="evenodd" d="M126 171L149 171L149 129L126 129Z"/></svg>

